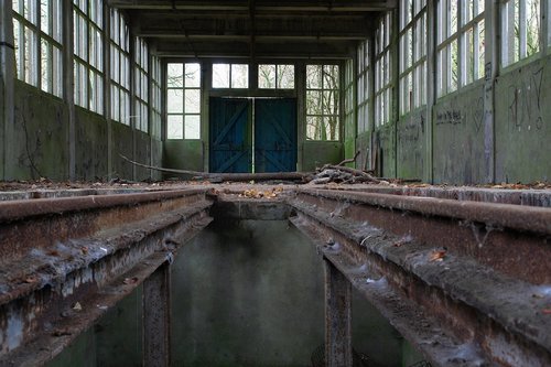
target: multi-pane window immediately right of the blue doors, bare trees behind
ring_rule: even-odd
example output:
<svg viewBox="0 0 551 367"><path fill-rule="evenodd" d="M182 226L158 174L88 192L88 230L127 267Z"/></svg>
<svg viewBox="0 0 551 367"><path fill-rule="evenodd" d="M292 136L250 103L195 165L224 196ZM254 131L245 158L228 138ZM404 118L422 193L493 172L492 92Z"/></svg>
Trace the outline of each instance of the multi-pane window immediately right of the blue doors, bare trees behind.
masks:
<svg viewBox="0 0 551 367"><path fill-rule="evenodd" d="M338 105L338 65L306 65L306 139L339 139Z"/></svg>

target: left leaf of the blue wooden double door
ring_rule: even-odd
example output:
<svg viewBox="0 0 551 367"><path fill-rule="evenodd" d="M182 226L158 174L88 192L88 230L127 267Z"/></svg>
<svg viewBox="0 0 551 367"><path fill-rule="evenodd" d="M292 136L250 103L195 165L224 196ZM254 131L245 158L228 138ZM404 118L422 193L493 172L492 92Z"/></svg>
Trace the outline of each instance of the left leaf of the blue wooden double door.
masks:
<svg viewBox="0 0 551 367"><path fill-rule="evenodd" d="M250 172L249 110L247 99L210 98L210 172Z"/></svg>

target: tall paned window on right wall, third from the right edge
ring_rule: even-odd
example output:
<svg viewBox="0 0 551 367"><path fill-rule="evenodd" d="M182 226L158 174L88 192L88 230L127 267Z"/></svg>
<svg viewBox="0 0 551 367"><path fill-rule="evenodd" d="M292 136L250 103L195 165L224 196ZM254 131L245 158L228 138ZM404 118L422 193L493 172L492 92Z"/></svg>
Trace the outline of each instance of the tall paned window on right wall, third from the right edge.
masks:
<svg viewBox="0 0 551 367"><path fill-rule="evenodd" d="M403 115L426 102L426 0L401 0L400 55L400 114Z"/></svg>

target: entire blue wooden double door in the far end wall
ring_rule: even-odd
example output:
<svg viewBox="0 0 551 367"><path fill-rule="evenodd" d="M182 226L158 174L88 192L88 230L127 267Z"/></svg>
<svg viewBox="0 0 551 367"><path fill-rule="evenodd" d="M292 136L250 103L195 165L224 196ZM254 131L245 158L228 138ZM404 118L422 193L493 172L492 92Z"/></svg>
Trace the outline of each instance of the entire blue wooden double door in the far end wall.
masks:
<svg viewBox="0 0 551 367"><path fill-rule="evenodd" d="M210 98L210 172L296 170L296 99Z"/></svg>

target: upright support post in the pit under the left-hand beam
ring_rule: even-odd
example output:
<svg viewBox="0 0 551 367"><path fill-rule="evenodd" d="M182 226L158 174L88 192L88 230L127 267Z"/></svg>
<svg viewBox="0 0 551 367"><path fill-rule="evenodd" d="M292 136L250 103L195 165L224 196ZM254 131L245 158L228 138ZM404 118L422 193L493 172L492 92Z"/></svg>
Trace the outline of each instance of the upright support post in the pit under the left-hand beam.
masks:
<svg viewBox="0 0 551 367"><path fill-rule="evenodd" d="M170 366L170 265L143 281L143 366Z"/></svg>

